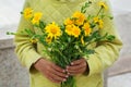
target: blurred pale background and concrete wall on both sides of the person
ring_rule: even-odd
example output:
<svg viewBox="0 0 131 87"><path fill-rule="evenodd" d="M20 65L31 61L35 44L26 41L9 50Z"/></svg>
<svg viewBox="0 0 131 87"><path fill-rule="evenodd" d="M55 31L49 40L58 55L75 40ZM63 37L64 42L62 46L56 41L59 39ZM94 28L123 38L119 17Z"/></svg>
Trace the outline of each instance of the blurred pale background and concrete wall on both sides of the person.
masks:
<svg viewBox="0 0 131 87"><path fill-rule="evenodd" d="M28 87L26 69L19 63L13 46L24 0L0 0L0 87ZM110 0L123 48L119 60L106 71L105 87L131 87L131 0Z"/></svg>

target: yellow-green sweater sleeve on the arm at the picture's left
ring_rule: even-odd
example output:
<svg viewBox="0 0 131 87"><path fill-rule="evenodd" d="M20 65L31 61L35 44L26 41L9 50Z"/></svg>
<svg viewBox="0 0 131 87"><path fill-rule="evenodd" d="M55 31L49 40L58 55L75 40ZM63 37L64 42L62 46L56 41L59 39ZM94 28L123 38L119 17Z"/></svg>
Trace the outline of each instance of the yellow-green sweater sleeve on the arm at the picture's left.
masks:
<svg viewBox="0 0 131 87"><path fill-rule="evenodd" d="M25 0L24 9L25 8L29 8L28 0ZM25 21L22 15L16 33L21 33L25 28L29 28L31 30L33 30L32 24L28 21ZM15 52L19 57L20 62L28 70L31 69L33 63L35 63L38 59L41 58L41 55L37 53L34 45L29 42L29 37L27 35L15 35L14 44Z"/></svg>

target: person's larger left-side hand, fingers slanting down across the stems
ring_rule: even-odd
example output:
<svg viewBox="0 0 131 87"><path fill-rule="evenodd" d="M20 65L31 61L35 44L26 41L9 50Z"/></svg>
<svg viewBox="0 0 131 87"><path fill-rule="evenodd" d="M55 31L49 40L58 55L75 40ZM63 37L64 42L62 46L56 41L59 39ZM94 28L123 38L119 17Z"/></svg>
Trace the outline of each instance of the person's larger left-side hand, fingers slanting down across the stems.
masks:
<svg viewBox="0 0 131 87"><path fill-rule="evenodd" d="M66 71L48 60L39 59L34 66L53 83L67 80L68 75Z"/></svg>

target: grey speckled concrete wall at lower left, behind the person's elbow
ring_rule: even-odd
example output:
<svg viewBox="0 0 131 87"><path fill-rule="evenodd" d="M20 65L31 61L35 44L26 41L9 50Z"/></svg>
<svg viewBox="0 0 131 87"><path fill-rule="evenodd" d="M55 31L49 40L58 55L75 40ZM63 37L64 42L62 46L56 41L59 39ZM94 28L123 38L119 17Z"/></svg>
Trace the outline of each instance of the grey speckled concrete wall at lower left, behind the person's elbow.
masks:
<svg viewBox="0 0 131 87"><path fill-rule="evenodd" d="M12 39L0 40L0 87L28 87L27 71L15 57Z"/></svg>

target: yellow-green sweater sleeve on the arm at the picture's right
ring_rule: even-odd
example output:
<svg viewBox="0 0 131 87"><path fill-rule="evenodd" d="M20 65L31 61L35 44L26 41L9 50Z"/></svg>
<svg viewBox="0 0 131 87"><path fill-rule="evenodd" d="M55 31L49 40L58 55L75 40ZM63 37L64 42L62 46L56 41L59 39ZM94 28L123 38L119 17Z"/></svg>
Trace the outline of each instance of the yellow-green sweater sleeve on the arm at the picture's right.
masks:
<svg viewBox="0 0 131 87"><path fill-rule="evenodd" d="M105 0L105 2L109 7L108 0ZM108 11L106 11L106 15L112 15L110 7L108 8ZM114 35L116 38L111 42L104 41L99 44L95 48L95 53L91 54L88 59L85 58L90 69L88 75L102 73L105 69L112 65L112 63L118 59L122 42L117 34L114 20L109 20L108 17L104 18L104 29L100 29L100 35L106 33Z"/></svg>

